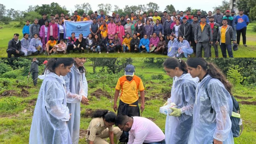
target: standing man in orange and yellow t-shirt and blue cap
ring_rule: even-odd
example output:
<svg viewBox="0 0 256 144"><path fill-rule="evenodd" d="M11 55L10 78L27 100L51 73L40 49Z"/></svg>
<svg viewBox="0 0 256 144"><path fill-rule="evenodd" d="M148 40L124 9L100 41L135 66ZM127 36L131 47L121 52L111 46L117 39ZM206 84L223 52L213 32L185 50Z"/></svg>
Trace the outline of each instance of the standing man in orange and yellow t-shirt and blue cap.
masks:
<svg viewBox="0 0 256 144"><path fill-rule="evenodd" d="M134 66L129 64L125 68L125 75L118 79L116 84L116 91L115 91L115 98L114 98L114 111L117 111L117 114L124 113L131 116L140 116L139 110L139 96L138 90L140 91L141 97L141 112L144 110L145 104L145 93L144 93L144 86L140 77L134 75ZM119 106L117 109L116 101L119 95L119 91L121 90L120 94L120 101Z"/></svg>

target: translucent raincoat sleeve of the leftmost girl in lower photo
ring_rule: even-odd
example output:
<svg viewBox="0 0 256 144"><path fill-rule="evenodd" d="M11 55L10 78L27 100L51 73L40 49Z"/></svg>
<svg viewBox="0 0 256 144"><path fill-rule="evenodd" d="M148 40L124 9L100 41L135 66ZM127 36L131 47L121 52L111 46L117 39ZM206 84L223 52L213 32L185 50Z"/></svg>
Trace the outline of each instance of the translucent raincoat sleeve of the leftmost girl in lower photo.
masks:
<svg viewBox="0 0 256 144"><path fill-rule="evenodd" d="M46 110L48 111L49 114L51 114L53 117L56 119L59 119L61 121L69 121L70 115L69 115L69 108L62 104L63 99L58 99L58 93L55 91L56 86L54 84L48 83L46 85L45 89L45 106Z"/></svg>

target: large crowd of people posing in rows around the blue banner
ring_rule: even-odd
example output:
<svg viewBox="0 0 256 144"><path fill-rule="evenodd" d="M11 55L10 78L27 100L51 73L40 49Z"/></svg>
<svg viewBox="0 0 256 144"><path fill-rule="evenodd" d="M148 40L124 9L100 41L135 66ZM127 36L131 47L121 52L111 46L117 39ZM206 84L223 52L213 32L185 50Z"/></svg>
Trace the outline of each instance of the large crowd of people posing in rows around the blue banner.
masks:
<svg viewBox="0 0 256 144"><path fill-rule="evenodd" d="M233 57L232 42L240 43L242 33L243 44L246 46L246 27L249 24L248 16L239 11L236 16L234 11L227 10L225 16L217 10L215 15L208 12L208 16L192 16L190 11L186 11L183 16L181 11L176 15L163 12L163 16L158 16L158 12L143 13L143 15L119 16L113 13L112 16L104 15L101 11L82 16L74 12L74 16L69 17L63 13L51 15L47 20L46 13L42 14L42 19L34 19L30 25L27 20L23 28L24 38L19 45L17 40L11 40L8 45L8 56L27 56L30 54L46 55L58 53L79 53L89 52L146 52L168 55L169 57L189 57L193 53L196 57L211 57L211 47L214 47L215 57L218 57L218 44L221 46L222 56ZM64 20L71 21L92 21L90 34L79 34L75 38L75 33L66 38L64 31ZM236 42L237 33L237 42ZM86 39L84 39L86 37ZM30 41L34 39L37 43ZM40 42L41 41L41 42ZM15 45L16 43L16 45Z"/></svg>

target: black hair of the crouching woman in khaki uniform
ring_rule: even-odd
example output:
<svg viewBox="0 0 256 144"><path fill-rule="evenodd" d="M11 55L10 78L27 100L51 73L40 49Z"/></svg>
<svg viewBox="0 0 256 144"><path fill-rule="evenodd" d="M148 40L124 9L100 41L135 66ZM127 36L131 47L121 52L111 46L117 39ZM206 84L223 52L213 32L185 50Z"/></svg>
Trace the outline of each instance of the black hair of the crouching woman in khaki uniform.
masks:
<svg viewBox="0 0 256 144"><path fill-rule="evenodd" d="M96 117L102 117L108 123L115 123L116 114L113 112L110 112L109 110L95 110L91 114L91 118L96 118Z"/></svg>

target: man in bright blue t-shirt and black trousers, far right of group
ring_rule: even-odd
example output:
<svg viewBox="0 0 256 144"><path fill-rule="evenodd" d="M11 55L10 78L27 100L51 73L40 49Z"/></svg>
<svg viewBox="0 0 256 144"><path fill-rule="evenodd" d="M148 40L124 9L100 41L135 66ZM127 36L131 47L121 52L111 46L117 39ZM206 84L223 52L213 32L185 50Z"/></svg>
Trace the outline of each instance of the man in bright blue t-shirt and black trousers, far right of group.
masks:
<svg viewBox="0 0 256 144"><path fill-rule="evenodd" d="M249 18L247 15L243 14L243 10L239 10L239 15L235 19L235 23L237 24L237 44L240 44L240 36L242 33L243 37L243 45L246 45L246 29L247 25L249 25Z"/></svg>

